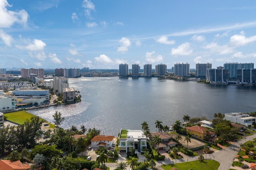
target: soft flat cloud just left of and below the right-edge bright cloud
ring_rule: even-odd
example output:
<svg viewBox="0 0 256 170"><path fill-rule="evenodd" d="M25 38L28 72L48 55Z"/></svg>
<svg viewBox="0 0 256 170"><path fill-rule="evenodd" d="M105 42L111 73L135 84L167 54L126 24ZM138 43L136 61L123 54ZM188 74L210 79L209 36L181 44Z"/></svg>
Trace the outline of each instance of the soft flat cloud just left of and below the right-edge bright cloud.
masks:
<svg viewBox="0 0 256 170"><path fill-rule="evenodd" d="M204 46L205 49L210 49L213 53L217 54L230 54L234 52L233 47L230 47L228 45L218 45L217 43L209 43L206 46Z"/></svg>

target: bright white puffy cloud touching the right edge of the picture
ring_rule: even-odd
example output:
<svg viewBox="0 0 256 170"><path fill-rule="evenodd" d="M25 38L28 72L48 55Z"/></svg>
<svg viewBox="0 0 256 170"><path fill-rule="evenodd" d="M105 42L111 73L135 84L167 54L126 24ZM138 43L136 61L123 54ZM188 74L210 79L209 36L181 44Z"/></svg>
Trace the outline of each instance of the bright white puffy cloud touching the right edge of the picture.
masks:
<svg viewBox="0 0 256 170"><path fill-rule="evenodd" d="M240 32L240 35L234 35L232 37L230 37L230 45L233 45L235 47L240 47L240 46L244 46L247 45L248 43L252 43L256 41L256 36L251 36L246 38L244 36L244 32Z"/></svg>

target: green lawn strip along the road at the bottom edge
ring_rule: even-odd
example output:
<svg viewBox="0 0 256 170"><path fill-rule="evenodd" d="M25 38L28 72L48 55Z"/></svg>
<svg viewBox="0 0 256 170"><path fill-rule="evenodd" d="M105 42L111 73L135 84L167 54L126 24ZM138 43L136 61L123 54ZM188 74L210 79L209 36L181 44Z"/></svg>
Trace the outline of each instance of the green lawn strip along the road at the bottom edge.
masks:
<svg viewBox="0 0 256 170"><path fill-rule="evenodd" d="M220 163L215 160L207 160L207 162L202 162L202 170L217 170L220 166ZM169 165L161 165L161 167L164 170L170 170L172 167L177 168L179 170L200 170L201 169L201 163L199 160L191 161L191 162L183 162L178 163L177 166L175 164L169 164Z"/></svg>

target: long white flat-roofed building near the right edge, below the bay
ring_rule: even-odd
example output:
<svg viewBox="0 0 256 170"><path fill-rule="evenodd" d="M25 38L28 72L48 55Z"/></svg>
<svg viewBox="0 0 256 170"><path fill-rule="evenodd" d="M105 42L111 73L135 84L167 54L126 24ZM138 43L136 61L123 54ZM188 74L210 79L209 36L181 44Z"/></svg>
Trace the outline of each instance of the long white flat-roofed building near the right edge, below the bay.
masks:
<svg viewBox="0 0 256 170"><path fill-rule="evenodd" d="M232 123L238 123L246 127L251 127L252 124L255 123L256 117L252 117L246 113L235 112L225 113L225 120Z"/></svg>

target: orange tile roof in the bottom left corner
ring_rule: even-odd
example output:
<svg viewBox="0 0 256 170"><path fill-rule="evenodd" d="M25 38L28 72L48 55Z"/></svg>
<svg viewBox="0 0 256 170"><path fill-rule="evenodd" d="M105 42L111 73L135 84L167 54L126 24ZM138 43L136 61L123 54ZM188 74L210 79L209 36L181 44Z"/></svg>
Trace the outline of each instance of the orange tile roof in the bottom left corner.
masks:
<svg viewBox="0 0 256 170"><path fill-rule="evenodd" d="M29 170L30 166L22 164L20 160L12 162L10 160L0 160L1 170Z"/></svg>

